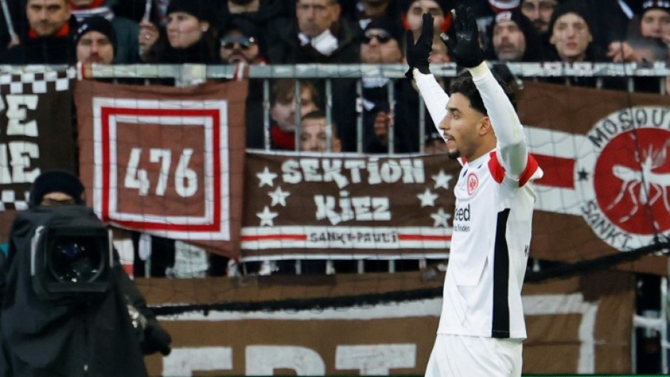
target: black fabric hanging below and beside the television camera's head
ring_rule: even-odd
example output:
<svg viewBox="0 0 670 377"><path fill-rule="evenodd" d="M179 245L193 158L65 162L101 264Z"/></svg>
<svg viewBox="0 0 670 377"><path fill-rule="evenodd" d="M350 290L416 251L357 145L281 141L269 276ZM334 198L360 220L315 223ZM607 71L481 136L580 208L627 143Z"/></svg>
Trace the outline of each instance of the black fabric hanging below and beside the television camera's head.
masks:
<svg viewBox="0 0 670 377"><path fill-rule="evenodd" d="M19 212L0 308L0 376L147 376L114 267L104 293L86 299L38 298L29 243L34 225ZM92 213L92 212L91 212Z"/></svg>

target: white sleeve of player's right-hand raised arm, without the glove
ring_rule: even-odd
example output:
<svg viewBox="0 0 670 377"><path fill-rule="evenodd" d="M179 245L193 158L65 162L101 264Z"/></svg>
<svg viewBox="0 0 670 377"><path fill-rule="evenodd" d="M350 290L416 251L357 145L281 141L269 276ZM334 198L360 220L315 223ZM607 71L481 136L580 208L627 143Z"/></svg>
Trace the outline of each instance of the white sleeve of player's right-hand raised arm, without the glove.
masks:
<svg viewBox="0 0 670 377"><path fill-rule="evenodd" d="M486 62L470 68L491 125L498 138L496 154L505 172L517 179L526 170L528 150L523 127L514 106L498 81L493 77Z"/></svg>

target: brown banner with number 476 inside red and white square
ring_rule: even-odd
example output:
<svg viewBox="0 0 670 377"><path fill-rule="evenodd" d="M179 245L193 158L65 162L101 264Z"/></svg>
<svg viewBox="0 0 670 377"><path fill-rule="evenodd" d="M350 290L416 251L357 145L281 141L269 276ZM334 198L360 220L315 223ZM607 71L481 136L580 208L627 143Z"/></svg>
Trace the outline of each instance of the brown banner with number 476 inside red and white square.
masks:
<svg viewBox="0 0 670 377"><path fill-rule="evenodd" d="M237 257L246 96L246 81L191 88L78 83L88 204L117 227Z"/></svg>

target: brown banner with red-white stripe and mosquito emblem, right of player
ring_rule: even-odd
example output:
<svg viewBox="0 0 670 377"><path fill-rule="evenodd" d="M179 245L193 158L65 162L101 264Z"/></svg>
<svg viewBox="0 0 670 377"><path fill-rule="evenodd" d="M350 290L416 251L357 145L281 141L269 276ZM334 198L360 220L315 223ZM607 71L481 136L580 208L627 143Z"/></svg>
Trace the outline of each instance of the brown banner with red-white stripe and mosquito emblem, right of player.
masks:
<svg viewBox="0 0 670 377"><path fill-rule="evenodd" d="M527 83L520 118L545 171L532 255L575 261L670 236L670 99Z"/></svg>

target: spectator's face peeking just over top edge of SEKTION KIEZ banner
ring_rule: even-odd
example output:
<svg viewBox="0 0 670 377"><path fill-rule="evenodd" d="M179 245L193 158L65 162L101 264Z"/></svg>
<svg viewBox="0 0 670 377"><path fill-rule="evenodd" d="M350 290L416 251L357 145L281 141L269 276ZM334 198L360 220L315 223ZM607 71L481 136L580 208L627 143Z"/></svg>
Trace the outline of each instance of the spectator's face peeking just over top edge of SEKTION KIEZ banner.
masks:
<svg viewBox="0 0 670 377"><path fill-rule="evenodd" d="M331 144L328 145L328 132ZM341 152L342 143L337 137L337 128L328 124L323 110L305 114L300 123L300 150L305 152Z"/></svg>

